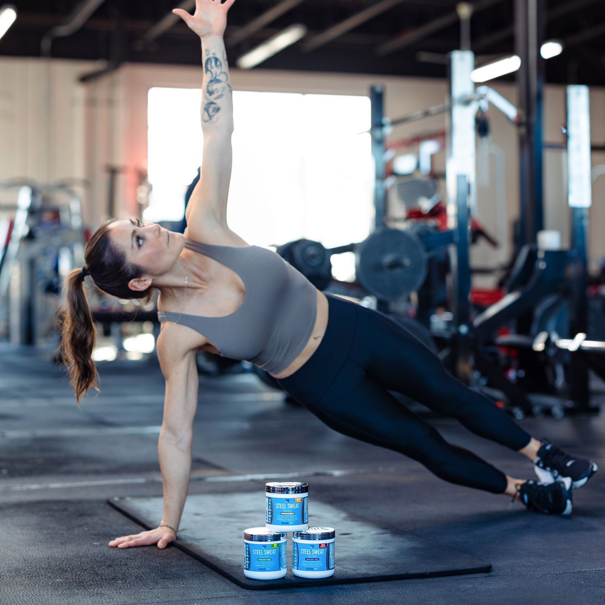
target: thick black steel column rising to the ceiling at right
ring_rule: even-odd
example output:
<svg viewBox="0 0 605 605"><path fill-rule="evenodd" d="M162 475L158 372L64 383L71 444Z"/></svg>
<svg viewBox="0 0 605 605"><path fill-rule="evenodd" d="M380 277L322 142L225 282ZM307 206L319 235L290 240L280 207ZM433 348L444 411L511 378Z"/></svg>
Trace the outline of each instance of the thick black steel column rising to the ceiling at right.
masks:
<svg viewBox="0 0 605 605"><path fill-rule="evenodd" d="M515 0L515 52L521 57L517 71L519 108L520 214L518 246L535 244L544 228L542 191L542 106L545 0Z"/></svg>

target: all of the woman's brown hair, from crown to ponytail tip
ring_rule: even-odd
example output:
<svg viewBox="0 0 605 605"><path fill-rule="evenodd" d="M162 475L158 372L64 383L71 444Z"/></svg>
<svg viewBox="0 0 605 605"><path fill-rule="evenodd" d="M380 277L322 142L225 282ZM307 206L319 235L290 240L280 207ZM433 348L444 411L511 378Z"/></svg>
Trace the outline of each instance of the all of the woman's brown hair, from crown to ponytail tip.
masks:
<svg viewBox="0 0 605 605"><path fill-rule="evenodd" d="M143 270L126 262L124 253L111 242L108 221L94 232L84 250L86 273L94 285L117 298L149 301L152 287L135 292L128 287L130 280L143 275ZM70 371L71 384L76 390L77 404L91 387L99 390L97 369L93 361L96 329L83 287L84 274L74 269L65 278L64 302L59 311L61 330L60 352Z"/></svg>

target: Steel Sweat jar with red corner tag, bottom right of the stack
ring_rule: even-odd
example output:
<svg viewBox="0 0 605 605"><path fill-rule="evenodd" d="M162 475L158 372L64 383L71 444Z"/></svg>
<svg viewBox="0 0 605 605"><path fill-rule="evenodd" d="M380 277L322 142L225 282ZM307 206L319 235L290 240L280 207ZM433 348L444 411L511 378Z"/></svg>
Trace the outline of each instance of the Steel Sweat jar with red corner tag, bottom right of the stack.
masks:
<svg viewBox="0 0 605 605"><path fill-rule="evenodd" d="M308 528L292 534L292 573L300 578L329 578L334 573L333 528Z"/></svg>

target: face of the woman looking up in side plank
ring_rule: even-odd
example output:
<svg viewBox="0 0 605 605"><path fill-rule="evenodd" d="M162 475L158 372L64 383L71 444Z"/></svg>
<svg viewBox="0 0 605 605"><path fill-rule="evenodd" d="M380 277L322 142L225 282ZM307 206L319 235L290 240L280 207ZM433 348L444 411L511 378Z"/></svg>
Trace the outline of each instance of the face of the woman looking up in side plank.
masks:
<svg viewBox="0 0 605 605"><path fill-rule="evenodd" d="M123 250L126 260L151 277L168 272L185 247L183 234L163 229L157 223L114 221L109 231L111 241Z"/></svg>

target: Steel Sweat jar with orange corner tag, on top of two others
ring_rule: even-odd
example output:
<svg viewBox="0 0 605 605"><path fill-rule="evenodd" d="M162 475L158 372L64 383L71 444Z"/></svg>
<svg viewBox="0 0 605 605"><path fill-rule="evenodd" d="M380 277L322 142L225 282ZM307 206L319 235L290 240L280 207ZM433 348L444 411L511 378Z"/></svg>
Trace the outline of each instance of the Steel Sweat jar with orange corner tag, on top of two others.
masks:
<svg viewBox="0 0 605 605"><path fill-rule="evenodd" d="M276 531L302 531L309 526L309 484L265 484L265 525Z"/></svg>

